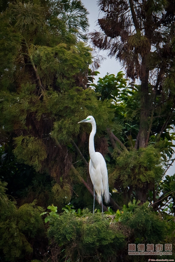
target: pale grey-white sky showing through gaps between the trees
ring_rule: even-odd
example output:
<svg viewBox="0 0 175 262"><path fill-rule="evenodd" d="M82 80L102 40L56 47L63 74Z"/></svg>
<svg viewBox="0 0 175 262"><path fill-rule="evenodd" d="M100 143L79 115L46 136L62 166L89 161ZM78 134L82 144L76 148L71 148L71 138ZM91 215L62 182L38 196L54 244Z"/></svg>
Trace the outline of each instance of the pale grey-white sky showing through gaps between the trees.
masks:
<svg viewBox="0 0 175 262"><path fill-rule="evenodd" d="M97 6L97 1L96 0L81 0L84 6L87 8L89 15L89 31L99 31L99 26L97 26L97 20L98 18L103 17L103 14L99 12L99 6ZM106 60L104 60L101 63L101 67L98 69L100 72L100 75L95 77L95 83L97 82L99 77L104 77L106 73L114 74L117 75L119 71L123 71L124 69L122 66L117 62L114 58L108 58L107 57L107 52L106 51L100 51L100 55L106 57ZM172 130L173 132L173 130ZM175 143L174 143L175 144ZM175 150L175 148L173 148ZM175 154L172 156L172 158L175 158ZM172 176L175 173L175 161L174 164L168 169L166 175Z"/></svg>

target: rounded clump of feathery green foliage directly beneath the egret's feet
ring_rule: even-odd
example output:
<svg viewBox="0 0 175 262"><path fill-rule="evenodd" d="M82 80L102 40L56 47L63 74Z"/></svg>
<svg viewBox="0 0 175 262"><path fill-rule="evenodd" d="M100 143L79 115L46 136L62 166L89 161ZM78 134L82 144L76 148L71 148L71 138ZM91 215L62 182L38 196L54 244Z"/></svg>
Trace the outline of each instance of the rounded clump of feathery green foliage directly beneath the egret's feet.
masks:
<svg viewBox="0 0 175 262"><path fill-rule="evenodd" d="M73 213L53 217L48 236L66 248L72 261L112 261L125 246L124 234L110 225L106 215L93 215L88 209L82 212L81 217Z"/></svg>

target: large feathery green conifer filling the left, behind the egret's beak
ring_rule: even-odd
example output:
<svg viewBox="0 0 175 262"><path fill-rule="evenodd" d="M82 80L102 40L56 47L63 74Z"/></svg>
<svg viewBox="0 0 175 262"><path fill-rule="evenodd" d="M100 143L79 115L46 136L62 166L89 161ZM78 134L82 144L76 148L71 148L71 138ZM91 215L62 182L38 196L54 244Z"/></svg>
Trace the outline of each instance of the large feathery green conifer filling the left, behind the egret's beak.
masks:
<svg viewBox="0 0 175 262"><path fill-rule="evenodd" d="M55 178L61 199L72 194L70 143L78 121L93 114L105 129L113 117L108 102L86 86L86 15L80 1L14 1L1 14L1 132L18 162Z"/></svg>

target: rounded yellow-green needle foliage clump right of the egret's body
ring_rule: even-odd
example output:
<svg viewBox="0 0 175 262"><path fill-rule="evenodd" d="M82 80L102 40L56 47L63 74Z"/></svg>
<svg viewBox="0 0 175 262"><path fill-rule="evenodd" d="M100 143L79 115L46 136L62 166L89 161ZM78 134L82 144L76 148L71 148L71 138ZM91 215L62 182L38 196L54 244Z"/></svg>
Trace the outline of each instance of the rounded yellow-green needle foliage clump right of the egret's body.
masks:
<svg viewBox="0 0 175 262"><path fill-rule="evenodd" d="M158 182L164 173L160 150L153 146L139 148L139 150L130 148L119 156L114 149L113 156L116 160L116 169L110 174L110 179L117 179L124 188L143 187L145 182Z"/></svg>

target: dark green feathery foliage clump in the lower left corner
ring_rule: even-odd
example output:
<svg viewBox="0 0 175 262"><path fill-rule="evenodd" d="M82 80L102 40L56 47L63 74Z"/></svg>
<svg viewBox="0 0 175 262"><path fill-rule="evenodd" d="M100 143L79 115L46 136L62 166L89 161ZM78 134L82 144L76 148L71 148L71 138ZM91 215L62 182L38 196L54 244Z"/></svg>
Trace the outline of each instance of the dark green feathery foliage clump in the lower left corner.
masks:
<svg viewBox="0 0 175 262"><path fill-rule="evenodd" d="M43 208L36 201L17 208L5 194L6 185L0 181L0 248L5 261L17 261L32 253L29 239L43 234Z"/></svg>

